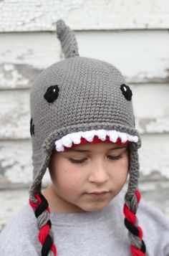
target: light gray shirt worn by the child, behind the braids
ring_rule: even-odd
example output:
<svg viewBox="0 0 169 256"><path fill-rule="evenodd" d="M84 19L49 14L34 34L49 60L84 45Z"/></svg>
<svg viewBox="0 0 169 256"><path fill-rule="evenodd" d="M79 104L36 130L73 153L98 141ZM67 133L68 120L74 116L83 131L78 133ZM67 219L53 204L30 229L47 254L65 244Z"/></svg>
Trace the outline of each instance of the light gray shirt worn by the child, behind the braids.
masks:
<svg viewBox="0 0 169 256"><path fill-rule="evenodd" d="M125 193L120 191L98 212L51 213L57 256L131 256L122 212ZM169 256L169 219L143 199L137 209L138 224L148 256ZM37 219L29 204L0 234L0 255L41 255Z"/></svg>

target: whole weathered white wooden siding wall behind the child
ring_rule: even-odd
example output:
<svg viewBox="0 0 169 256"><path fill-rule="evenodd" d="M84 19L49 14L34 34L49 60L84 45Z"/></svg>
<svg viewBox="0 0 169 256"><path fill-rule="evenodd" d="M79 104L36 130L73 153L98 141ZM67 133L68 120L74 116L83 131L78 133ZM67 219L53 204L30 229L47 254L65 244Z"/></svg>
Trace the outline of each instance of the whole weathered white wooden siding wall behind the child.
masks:
<svg viewBox="0 0 169 256"><path fill-rule="evenodd" d="M140 190L169 217L169 1L4 0L0 1L0 229L27 202L32 181L29 91L39 72L63 60L55 32L58 19L74 29L80 56L110 62L125 76L143 141ZM49 181L47 171L43 186Z"/></svg>

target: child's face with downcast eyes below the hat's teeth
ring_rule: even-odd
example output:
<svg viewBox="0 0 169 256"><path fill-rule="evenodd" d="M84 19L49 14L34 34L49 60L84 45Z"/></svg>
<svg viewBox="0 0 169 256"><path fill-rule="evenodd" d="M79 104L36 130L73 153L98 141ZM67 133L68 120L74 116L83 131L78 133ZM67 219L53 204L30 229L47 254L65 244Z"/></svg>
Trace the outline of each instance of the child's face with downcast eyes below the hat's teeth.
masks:
<svg viewBox="0 0 169 256"><path fill-rule="evenodd" d="M61 211L94 212L106 207L124 186L129 153L127 146L115 143L86 143L69 151L53 151L49 169ZM107 193L87 194L95 191Z"/></svg>

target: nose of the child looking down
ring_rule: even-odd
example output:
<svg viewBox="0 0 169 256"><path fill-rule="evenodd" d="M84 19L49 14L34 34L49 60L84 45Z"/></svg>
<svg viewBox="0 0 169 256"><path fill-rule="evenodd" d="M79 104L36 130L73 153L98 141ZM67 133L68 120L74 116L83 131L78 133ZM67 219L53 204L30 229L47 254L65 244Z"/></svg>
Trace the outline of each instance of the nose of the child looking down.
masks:
<svg viewBox="0 0 169 256"><path fill-rule="evenodd" d="M104 184L109 180L109 175L106 166L103 164L97 164L97 166L92 166L92 170L88 177L88 181L96 184Z"/></svg>

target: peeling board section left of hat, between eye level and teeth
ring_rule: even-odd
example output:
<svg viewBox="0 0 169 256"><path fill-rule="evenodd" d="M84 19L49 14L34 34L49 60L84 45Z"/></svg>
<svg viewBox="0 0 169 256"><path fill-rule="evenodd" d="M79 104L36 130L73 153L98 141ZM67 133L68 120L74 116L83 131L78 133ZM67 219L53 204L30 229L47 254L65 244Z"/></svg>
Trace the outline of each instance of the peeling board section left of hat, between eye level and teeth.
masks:
<svg viewBox="0 0 169 256"><path fill-rule="evenodd" d="M29 90L1 90L0 138L30 138Z"/></svg>

